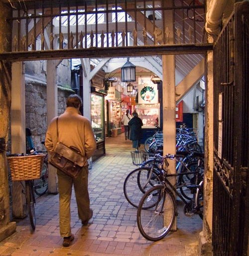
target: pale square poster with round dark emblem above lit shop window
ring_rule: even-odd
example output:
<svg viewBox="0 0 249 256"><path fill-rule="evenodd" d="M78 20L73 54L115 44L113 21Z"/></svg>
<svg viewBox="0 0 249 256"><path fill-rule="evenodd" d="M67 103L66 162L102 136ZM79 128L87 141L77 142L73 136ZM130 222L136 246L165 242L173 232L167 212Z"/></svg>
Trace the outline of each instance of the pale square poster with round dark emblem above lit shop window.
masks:
<svg viewBox="0 0 249 256"><path fill-rule="evenodd" d="M158 90L157 84L139 84L138 85L138 104L157 104Z"/></svg>

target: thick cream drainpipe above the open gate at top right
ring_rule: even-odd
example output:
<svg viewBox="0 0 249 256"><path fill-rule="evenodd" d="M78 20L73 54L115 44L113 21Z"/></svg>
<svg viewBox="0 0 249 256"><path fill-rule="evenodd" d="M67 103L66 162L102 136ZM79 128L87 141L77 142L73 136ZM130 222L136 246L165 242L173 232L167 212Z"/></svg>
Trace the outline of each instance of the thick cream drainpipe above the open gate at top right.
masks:
<svg viewBox="0 0 249 256"><path fill-rule="evenodd" d="M209 34L218 35L221 31L220 24L227 0L213 0L210 3L210 9L206 15L205 28Z"/></svg>

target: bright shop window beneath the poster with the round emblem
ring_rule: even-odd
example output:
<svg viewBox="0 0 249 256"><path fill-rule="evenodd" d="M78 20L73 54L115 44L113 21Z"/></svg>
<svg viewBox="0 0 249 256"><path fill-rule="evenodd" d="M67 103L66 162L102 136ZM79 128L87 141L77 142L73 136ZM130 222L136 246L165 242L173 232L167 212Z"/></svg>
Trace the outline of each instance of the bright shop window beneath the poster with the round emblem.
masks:
<svg viewBox="0 0 249 256"><path fill-rule="evenodd" d="M160 118L159 108L136 108L138 117L142 120L144 127L155 127L157 118Z"/></svg>

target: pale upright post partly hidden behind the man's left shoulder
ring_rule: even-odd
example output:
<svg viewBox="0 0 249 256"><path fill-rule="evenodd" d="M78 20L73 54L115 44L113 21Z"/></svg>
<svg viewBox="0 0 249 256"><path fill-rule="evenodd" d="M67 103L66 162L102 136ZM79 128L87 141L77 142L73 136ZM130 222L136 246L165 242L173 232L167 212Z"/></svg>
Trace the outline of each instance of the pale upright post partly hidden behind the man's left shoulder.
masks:
<svg viewBox="0 0 249 256"><path fill-rule="evenodd" d="M56 61L47 60L47 125L58 116L58 88L56 84ZM57 194L56 168L48 165L48 193Z"/></svg>

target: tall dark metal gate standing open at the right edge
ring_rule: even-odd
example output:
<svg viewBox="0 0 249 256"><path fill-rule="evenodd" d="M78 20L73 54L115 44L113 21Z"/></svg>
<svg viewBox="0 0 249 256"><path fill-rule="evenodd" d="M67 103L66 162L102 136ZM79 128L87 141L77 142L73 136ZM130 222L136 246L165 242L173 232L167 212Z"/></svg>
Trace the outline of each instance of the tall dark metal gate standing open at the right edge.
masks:
<svg viewBox="0 0 249 256"><path fill-rule="evenodd" d="M249 241L249 2L214 46L213 255L247 256Z"/></svg>

